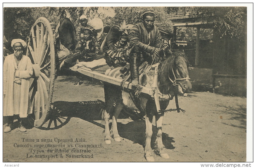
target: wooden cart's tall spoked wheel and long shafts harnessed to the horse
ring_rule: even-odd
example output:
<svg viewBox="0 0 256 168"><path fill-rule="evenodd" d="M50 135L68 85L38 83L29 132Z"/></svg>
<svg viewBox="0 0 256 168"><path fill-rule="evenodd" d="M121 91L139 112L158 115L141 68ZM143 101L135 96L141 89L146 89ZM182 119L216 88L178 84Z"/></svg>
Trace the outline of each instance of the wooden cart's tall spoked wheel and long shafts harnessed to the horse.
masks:
<svg viewBox="0 0 256 168"><path fill-rule="evenodd" d="M52 105L54 79L56 78L55 57L57 56L54 40L50 22L44 17L37 19L31 28L26 55L31 58L33 64L33 77L30 80L29 87L33 113L29 118L33 125L39 129L56 129L67 123L70 119L67 116L61 116L60 112L54 109ZM103 82L132 90L136 89L129 82L92 71L86 67L72 67L70 69ZM157 72L157 66L155 71ZM155 80L157 80L157 77L155 77ZM149 94L154 98L156 106L160 110L157 81L154 83L155 86L152 88L142 86L141 92ZM179 109L178 106L177 109ZM141 117L141 114L139 115Z"/></svg>

